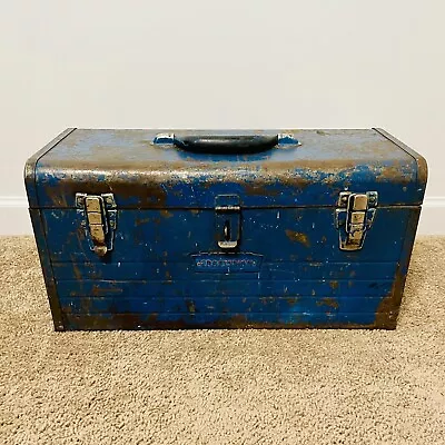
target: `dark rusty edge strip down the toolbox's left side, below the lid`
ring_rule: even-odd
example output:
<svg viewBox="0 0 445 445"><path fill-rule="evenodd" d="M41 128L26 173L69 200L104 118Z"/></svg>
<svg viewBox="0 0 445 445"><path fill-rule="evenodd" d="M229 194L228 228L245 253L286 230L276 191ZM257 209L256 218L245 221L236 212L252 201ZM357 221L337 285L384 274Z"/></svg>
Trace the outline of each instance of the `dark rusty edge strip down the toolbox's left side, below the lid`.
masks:
<svg viewBox="0 0 445 445"><path fill-rule="evenodd" d="M39 209L30 208L29 215L31 217L32 228L34 230L37 250L39 253L44 285L47 287L48 300L52 314L55 330L65 330L65 324L59 297L57 294L56 279L50 260L50 254L47 246L47 238L43 229L41 211Z"/></svg>

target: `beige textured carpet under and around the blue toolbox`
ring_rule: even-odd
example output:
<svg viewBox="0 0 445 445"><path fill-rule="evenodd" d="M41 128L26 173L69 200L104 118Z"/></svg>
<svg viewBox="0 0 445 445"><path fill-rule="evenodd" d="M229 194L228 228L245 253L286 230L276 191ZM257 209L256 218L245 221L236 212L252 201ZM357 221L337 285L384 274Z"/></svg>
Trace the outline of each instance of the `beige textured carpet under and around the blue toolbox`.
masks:
<svg viewBox="0 0 445 445"><path fill-rule="evenodd" d="M419 238L395 332L53 333L0 238L0 444L445 444L444 275Z"/></svg>

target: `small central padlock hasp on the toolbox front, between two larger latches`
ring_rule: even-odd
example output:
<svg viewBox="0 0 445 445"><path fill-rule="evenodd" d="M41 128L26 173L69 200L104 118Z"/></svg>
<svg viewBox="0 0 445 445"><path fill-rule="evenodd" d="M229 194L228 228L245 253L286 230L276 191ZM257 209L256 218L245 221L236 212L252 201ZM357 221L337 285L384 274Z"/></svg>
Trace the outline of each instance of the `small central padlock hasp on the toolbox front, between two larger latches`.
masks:
<svg viewBox="0 0 445 445"><path fill-rule="evenodd" d="M215 198L216 237L221 249L234 249L240 239L241 208L239 196L218 195Z"/></svg>

